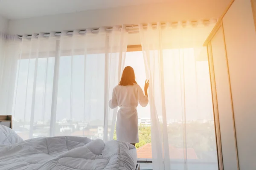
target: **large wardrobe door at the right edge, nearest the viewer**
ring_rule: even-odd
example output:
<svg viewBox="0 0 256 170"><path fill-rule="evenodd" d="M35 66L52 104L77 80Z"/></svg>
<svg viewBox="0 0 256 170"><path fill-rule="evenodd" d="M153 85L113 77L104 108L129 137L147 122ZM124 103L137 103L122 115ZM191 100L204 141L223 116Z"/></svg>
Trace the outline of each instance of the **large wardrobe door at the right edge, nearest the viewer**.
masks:
<svg viewBox="0 0 256 170"><path fill-rule="evenodd" d="M223 21L240 170L256 167L256 31L251 0L235 0Z"/></svg>

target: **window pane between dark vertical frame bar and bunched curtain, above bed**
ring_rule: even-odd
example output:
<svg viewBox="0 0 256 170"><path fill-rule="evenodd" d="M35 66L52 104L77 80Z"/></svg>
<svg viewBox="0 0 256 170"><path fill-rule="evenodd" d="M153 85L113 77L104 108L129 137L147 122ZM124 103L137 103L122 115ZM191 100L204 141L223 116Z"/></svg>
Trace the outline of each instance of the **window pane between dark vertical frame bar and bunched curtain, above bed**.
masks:
<svg viewBox="0 0 256 170"><path fill-rule="evenodd" d="M55 136L103 139L104 81L105 54L60 57Z"/></svg>

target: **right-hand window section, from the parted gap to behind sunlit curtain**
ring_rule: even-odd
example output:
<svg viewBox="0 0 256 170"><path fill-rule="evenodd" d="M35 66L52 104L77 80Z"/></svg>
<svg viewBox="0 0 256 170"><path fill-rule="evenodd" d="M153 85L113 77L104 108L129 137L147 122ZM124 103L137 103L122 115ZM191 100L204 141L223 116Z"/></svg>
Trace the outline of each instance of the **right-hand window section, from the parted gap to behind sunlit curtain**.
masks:
<svg viewBox="0 0 256 170"><path fill-rule="evenodd" d="M177 95L180 94L179 88L177 88L180 87L180 84L179 81L172 82L174 77L179 79L180 75L180 65L178 65L180 49L163 51L169 156L173 168L180 168L178 167L179 160L183 161L184 153L186 153L189 168L195 167L199 170L207 166L208 169L217 170L215 125L207 53L194 60L191 56L197 53L196 50L193 48L182 50L184 53L184 79L186 81L185 128L182 123L184 118L180 113L180 107L177 106L180 103L177 102L180 100L180 96ZM129 49L125 60L125 66L127 65L134 68L136 81L143 88L146 76L142 51ZM156 98L156 100L159 99ZM140 134L140 143L137 144L137 156L139 160L151 160L150 108L149 105L146 108L139 106L137 110ZM183 136L184 130L186 139Z"/></svg>

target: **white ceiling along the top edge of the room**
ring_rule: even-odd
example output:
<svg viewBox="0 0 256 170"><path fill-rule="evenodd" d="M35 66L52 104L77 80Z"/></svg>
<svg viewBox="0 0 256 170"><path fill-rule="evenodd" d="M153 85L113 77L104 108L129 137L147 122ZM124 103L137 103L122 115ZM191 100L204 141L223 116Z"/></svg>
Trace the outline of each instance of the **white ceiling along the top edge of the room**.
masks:
<svg viewBox="0 0 256 170"><path fill-rule="evenodd" d="M184 0L0 0L0 15L10 20L100 8Z"/></svg>

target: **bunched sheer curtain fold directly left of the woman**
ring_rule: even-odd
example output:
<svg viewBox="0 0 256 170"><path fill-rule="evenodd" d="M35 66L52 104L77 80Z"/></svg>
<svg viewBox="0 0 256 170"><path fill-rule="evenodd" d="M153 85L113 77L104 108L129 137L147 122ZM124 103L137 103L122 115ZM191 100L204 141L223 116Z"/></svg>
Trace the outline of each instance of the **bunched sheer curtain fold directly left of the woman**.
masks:
<svg viewBox="0 0 256 170"><path fill-rule="evenodd" d="M114 27L116 29L116 27ZM108 51L108 63L107 69L108 73L105 73L105 127L104 131L109 133L105 135L105 141L112 140L114 135L114 130L116 127L116 116L117 108L111 109L108 106L108 102L112 99L113 88L118 85L121 77L122 71L125 65L125 56L127 51L128 43L128 32L125 31L125 26L122 26L121 32L114 31L113 34L109 36L109 51ZM108 137L108 139L107 139Z"/></svg>

